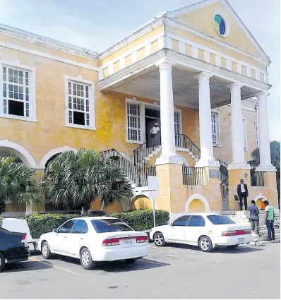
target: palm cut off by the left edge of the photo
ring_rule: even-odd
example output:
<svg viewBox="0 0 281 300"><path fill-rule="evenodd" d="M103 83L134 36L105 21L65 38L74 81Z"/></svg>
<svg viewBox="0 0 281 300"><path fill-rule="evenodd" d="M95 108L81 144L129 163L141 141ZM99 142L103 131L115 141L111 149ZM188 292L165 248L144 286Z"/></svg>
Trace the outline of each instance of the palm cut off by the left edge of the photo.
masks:
<svg viewBox="0 0 281 300"><path fill-rule="evenodd" d="M16 162L15 157L0 157L0 208L11 200L17 206L39 204L42 200L40 184L35 179L35 170Z"/></svg>

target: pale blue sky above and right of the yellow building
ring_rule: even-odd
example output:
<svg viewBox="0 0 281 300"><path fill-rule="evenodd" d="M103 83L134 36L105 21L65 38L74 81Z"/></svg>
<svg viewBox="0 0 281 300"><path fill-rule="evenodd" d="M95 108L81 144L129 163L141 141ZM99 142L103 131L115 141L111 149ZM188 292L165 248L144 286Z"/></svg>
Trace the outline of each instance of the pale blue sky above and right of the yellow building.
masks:
<svg viewBox="0 0 281 300"><path fill-rule="evenodd" d="M268 67L270 139L280 140L280 0L228 0L272 64ZM196 0L0 0L0 23L96 52L164 11Z"/></svg>

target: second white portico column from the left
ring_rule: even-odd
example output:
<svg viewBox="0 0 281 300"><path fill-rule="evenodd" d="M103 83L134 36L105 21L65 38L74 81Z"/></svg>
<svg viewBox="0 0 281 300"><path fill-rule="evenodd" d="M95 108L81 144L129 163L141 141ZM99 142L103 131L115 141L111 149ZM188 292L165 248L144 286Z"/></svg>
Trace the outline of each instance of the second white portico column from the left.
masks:
<svg viewBox="0 0 281 300"><path fill-rule="evenodd" d="M201 157L196 167L219 167L215 161L212 135L212 111L210 103L210 77L212 74L201 72L196 75L199 89L199 131Z"/></svg>

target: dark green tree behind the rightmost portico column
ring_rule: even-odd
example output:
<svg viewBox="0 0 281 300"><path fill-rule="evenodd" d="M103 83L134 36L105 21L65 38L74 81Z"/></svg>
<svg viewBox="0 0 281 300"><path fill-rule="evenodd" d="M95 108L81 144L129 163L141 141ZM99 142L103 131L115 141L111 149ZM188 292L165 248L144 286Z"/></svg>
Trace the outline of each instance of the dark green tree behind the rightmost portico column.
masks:
<svg viewBox="0 0 281 300"><path fill-rule="evenodd" d="M270 155L271 155L271 163L276 168L276 181L277 181L277 193L278 193L278 202L280 207L280 142L277 140L273 140L270 142ZM260 164L260 150L256 148L251 152L251 156L253 160L249 162L251 167L258 167Z"/></svg>

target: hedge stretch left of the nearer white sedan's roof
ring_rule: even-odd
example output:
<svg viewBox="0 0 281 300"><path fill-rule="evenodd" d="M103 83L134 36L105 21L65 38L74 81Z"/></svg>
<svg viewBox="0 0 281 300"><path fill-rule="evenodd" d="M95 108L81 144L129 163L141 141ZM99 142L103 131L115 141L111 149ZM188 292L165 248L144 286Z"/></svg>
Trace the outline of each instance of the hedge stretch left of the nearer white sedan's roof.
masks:
<svg viewBox="0 0 281 300"><path fill-rule="evenodd" d="M25 217L28 222L32 239L38 239L41 234L52 232L54 228L59 227L73 217L80 217L80 215L64 215L64 214L32 214Z"/></svg>

